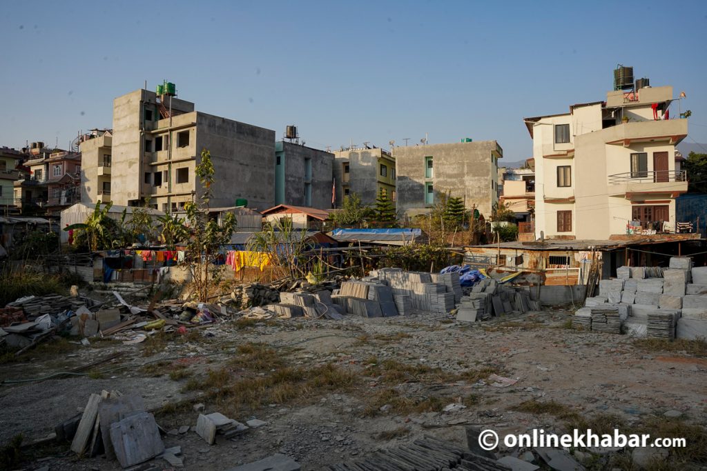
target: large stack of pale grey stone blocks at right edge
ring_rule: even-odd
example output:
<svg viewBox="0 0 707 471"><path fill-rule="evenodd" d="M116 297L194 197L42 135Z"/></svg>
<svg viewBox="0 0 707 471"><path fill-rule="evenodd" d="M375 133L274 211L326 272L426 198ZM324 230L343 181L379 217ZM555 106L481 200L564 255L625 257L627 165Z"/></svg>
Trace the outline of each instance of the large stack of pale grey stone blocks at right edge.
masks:
<svg viewBox="0 0 707 471"><path fill-rule="evenodd" d="M617 276L600 280L599 294L585 300L574 326L607 331L595 326L595 312L619 309L624 333L634 337L707 337L707 267L693 267L689 257L672 257L668 268L624 266Z"/></svg>

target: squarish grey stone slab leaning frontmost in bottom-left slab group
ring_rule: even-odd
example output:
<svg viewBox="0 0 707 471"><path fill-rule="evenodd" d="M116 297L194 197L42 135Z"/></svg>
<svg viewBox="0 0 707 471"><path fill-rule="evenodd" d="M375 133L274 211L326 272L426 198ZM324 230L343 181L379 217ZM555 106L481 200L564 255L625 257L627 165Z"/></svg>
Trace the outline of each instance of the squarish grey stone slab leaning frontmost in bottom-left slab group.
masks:
<svg viewBox="0 0 707 471"><path fill-rule="evenodd" d="M122 467L139 465L165 451L155 417L148 412L112 424L110 442Z"/></svg>

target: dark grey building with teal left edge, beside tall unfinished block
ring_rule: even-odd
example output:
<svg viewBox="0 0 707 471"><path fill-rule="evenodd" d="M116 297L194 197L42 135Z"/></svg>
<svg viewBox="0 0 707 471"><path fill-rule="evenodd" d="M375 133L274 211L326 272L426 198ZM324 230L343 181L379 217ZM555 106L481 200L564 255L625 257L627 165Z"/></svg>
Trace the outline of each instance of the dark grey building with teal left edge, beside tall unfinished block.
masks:
<svg viewBox="0 0 707 471"><path fill-rule="evenodd" d="M334 154L305 145L275 143L275 204L332 207Z"/></svg>

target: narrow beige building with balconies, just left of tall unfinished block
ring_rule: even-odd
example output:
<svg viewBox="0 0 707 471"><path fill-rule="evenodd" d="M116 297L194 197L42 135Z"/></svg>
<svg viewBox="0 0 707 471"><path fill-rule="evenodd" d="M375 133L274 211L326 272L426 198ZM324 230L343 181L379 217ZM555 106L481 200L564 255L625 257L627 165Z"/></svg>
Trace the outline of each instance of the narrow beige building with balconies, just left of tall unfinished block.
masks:
<svg viewBox="0 0 707 471"><path fill-rule="evenodd" d="M103 167L103 156L112 154L111 136L99 136L81 143L81 203L111 201L106 196L98 195L104 181L111 181L112 165ZM100 173L100 175L99 175Z"/></svg>

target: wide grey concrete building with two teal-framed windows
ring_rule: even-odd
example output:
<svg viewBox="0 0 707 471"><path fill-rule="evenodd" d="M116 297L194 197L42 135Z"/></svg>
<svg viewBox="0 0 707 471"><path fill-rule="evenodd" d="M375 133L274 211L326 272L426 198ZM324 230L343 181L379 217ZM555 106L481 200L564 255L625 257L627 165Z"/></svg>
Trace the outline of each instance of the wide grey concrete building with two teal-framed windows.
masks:
<svg viewBox="0 0 707 471"><path fill-rule="evenodd" d="M393 150L397 167L398 210L408 217L427 214L440 195L462 198L468 209L491 215L498 202L496 141L415 145Z"/></svg>

